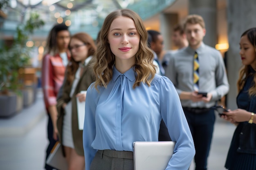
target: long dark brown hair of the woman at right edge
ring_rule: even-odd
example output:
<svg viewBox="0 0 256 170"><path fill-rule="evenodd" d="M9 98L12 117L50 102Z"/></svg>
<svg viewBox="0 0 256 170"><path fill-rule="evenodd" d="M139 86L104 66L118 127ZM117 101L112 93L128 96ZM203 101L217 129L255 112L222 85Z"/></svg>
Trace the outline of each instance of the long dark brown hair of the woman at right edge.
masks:
<svg viewBox="0 0 256 170"><path fill-rule="evenodd" d="M247 36L249 42L254 46L254 49L256 51L256 28L251 28L245 31L241 37ZM254 68L256 68L256 60L254 60ZM252 75L250 72L250 65L244 65L240 69L239 78L237 81L237 88L238 92L243 89L243 86L245 85L245 80L249 75ZM252 87L249 88L249 96L256 95L256 73L254 73L254 84Z"/></svg>

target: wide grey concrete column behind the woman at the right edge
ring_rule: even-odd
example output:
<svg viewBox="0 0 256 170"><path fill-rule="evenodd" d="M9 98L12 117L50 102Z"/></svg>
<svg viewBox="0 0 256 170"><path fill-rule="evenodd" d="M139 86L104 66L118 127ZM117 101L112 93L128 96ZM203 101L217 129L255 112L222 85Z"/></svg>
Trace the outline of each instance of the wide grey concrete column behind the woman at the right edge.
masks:
<svg viewBox="0 0 256 170"><path fill-rule="evenodd" d="M230 90L227 96L227 107L237 108L236 96L238 73L242 66L239 55L239 42L241 34L249 28L256 27L256 1L255 0L227 0L227 22L229 51L227 52L227 73Z"/></svg>

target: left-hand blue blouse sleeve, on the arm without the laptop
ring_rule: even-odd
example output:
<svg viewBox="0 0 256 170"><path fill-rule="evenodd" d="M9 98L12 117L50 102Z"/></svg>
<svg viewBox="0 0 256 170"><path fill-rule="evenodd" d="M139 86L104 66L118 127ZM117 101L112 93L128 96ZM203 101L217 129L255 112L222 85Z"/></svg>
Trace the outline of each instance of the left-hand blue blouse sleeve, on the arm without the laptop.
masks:
<svg viewBox="0 0 256 170"><path fill-rule="evenodd" d="M97 150L92 148L92 142L96 135L95 126L95 111L96 111L96 98L98 92L91 84L86 93L85 99L85 120L83 127L83 149L85 155L85 170L90 170L92 159L94 158Z"/></svg>

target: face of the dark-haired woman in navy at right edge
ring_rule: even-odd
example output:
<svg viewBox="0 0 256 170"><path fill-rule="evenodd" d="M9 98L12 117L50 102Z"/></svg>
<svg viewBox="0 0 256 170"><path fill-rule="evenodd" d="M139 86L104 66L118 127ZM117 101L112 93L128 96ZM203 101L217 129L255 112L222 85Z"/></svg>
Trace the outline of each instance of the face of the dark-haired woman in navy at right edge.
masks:
<svg viewBox="0 0 256 170"><path fill-rule="evenodd" d="M244 65L251 65L255 68L256 51L252 43L249 41L247 35L240 39L240 56Z"/></svg>

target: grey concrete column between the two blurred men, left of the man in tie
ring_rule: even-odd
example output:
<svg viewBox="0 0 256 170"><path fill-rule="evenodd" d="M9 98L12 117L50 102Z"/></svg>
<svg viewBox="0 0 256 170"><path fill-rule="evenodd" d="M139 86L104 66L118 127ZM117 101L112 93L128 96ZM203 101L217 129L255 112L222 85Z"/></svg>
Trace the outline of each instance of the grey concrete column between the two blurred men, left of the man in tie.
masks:
<svg viewBox="0 0 256 170"><path fill-rule="evenodd" d="M160 33L164 37L164 49L173 49L171 35L173 26L179 22L177 13L161 13L160 14Z"/></svg>

